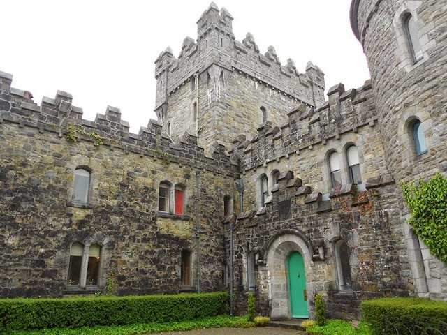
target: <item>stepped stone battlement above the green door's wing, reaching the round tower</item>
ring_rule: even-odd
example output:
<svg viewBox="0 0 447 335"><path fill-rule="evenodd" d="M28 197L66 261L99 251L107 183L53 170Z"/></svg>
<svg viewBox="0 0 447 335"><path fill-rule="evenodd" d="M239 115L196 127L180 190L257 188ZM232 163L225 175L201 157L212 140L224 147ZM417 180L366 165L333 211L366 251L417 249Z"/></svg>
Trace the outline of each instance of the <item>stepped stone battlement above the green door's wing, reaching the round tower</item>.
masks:
<svg viewBox="0 0 447 335"><path fill-rule="evenodd" d="M240 158L242 170L251 170L281 158L307 154L318 145L325 146L330 140L377 124L377 117L371 113L374 94L369 80L348 91L337 84L329 89L328 98L320 107L305 103L293 107L281 126L262 124L251 141L244 135L237 136L230 153Z"/></svg>

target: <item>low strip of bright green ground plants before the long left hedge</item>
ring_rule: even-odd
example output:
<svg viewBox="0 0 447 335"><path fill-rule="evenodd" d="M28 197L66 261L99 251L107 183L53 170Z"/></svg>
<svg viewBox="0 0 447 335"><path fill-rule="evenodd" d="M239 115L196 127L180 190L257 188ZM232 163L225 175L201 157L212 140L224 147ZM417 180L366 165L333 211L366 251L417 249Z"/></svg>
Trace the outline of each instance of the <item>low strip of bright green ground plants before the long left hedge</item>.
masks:
<svg viewBox="0 0 447 335"><path fill-rule="evenodd" d="M203 318L200 320L168 322L168 323L141 323L125 326L96 326L76 329L53 328L34 331L12 331L9 335L131 335L159 332L182 332L191 329L220 328L220 327L254 327L253 322L247 322L245 317L229 317L226 315Z"/></svg>

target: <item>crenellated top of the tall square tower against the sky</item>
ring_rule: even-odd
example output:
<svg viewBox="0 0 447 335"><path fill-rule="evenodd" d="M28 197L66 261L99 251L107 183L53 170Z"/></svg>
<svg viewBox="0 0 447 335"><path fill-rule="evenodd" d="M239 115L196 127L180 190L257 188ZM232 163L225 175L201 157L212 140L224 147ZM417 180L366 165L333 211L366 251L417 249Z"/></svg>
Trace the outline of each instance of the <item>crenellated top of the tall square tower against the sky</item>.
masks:
<svg viewBox="0 0 447 335"><path fill-rule="evenodd" d="M230 71L244 73L268 87L307 105L320 105L324 101L324 73L318 66L307 64L305 73L298 73L292 59L282 65L272 45L262 54L254 36L247 33L242 42L235 40L228 10L215 3L200 16L197 43L186 37L179 57L168 47L156 59L157 110L166 103L193 75L200 75L212 64Z"/></svg>

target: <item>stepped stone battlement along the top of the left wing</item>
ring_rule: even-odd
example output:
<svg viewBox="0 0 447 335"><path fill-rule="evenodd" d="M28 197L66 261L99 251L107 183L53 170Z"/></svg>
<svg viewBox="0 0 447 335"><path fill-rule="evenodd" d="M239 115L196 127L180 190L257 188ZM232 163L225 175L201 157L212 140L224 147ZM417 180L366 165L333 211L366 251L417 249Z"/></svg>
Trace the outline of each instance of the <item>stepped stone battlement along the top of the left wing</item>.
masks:
<svg viewBox="0 0 447 335"><path fill-rule="evenodd" d="M54 98L43 97L41 105L37 105L27 97L29 92L11 87L12 80L12 75L0 72L1 124L17 124L19 129L35 128L39 133L65 137L68 142L94 142L110 150L120 149L125 154L161 158L233 177L237 174L236 164L221 143L212 144L212 155L205 156L203 148L198 147L196 135L185 133L175 144L159 121L153 119L147 127L140 127L138 134L129 133L129 123L122 120L119 108L112 106L104 114L96 114L94 121L82 119L82 108L72 105L71 94L57 91Z"/></svg>

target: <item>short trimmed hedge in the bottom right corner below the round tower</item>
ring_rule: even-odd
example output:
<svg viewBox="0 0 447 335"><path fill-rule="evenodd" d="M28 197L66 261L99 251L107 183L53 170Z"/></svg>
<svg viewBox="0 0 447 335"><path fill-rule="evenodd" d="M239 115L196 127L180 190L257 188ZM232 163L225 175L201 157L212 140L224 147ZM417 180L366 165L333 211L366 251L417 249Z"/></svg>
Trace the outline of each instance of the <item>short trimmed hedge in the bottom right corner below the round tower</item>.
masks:
<svg viewBox="0 0 447 335"><path fill-rule="evenodd" d="M424 298L381 298L362 301L373 334L444 334L447 302ZM439 333L441 331L443 333Z"/></svg>

